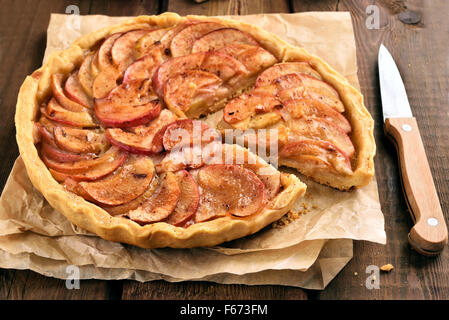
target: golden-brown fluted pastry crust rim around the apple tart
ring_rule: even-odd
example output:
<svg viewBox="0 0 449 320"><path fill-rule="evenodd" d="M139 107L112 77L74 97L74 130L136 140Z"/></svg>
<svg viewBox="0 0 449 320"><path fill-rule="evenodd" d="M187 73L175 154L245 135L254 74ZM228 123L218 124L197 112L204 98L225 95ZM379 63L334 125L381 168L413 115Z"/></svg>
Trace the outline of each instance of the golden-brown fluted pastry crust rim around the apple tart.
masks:
<svg viewBox="0 0 449 320"><path fill-rule="evenodd" d="M143 248L188 248L212 246L257 232L287 213L295 200L305 193L306 186L296 176L282 174L283 189L273 200L274 205L271 209L264 208L256 215L243 219L226 216L194 224L188 228L175 227L163 222L141 226L131 220L113 217L95 204L66 191L52 177L40 159L35 147L37 134L34 122L39 112L39 103L50 95L52 74L68 74L78 68L91 48L101 39L115 32L139 27L170 27L190 19L219 21L226 26L246 31L280 61L309 61L323 79L332 84L339 92L346 106L346 116L353 126L354 132L351 138L357 150L354 174L345 181L339 182L341 189L347 189L348 186L354 185L362 186L369 182L374 174L373 120L363 105L362 95L350 86L343 76L319 58L308 54L304 49L293 47L277 36L253 25L219 18L180 17L174 13L165 13L160 16L132 18L121 24L82 36L70 48L53 53L41 68L25 79L16 107L16 138L30 180L52 207L64 214L75 225L107 240L129 243ZM294 166L294 164L291 165Z"/></svg>

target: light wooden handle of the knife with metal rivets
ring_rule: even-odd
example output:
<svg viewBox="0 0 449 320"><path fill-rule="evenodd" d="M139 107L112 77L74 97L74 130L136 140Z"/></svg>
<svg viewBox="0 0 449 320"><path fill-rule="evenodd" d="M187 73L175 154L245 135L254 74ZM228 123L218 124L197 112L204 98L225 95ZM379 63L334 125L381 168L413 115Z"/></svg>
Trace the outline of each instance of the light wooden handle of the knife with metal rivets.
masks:
<svg viewBox="0 0 449 320"><path fill-rule="evenodd" d="M421 254L437 255L447 244L447 226L415 118L388 118L385 133L396 145L407 205L415 223L411 246Z"/></svg>

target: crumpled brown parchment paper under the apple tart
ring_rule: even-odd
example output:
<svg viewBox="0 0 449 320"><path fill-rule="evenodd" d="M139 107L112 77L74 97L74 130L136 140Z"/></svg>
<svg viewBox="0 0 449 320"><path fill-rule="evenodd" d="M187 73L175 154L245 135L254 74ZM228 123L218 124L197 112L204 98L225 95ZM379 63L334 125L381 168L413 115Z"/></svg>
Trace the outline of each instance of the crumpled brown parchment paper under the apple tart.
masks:
<svg viewBox="0 0 449 320"><path fill-rule="evenodd" d="M358 87L349 13L232 18L304 46ZM45 57L82 34L122 19L52 14ZM301 179L308 186L306 196L289 219L276 226L214 248L146 250L103 240L72 225L34 189L19 157L0 198L0 267L62 279L68 275L67 266L76 265L82 279L205 280L323 289L352 258L352 239L385 244L377 183L373 179L360 190L340 192Z"/></svg>

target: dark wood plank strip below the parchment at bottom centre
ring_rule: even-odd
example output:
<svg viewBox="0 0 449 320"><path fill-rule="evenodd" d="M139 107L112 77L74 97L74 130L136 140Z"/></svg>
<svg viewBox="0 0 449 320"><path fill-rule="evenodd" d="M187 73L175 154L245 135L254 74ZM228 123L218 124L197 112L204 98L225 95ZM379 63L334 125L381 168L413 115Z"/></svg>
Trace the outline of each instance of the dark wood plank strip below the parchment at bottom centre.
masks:
<svg viewBox="0 0 449 320"><path fill-rule="evenodd" d="M123 284L124 300L134 299L174 299L174 300L306 300L307 295L301 289L281 286L246 286L221 285L211 282L179 282L165 281L147 282L136 285L125 281Z"/></svg>

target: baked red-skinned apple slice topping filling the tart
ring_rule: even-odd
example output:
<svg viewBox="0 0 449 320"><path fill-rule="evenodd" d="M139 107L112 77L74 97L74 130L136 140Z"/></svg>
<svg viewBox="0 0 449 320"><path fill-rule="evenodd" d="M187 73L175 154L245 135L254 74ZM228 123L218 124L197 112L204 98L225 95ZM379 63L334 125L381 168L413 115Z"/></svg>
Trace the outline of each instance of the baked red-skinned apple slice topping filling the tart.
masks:
<svg viewBox="0 0 449 320"><path fill-rule="evenodd" d="M114 33L97 47L77 70L51 76L37 143L55 180L113 216L187 228L271 208L282 175L222 143L202 116L223 108L230 128L284 130L279 156L306 175L352 172L338 92L309 63L278 63L247 32L193 20Z"/></svg>

